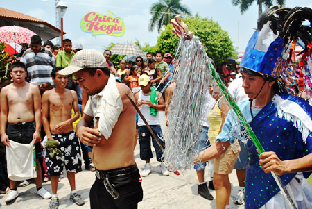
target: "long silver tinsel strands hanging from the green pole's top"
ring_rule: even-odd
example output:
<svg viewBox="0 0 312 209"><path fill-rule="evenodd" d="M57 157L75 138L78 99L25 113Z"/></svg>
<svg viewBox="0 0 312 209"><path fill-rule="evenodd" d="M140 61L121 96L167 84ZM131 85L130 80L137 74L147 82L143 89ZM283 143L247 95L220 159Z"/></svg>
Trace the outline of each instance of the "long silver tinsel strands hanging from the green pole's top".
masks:
<svg viewBox="0 0 312 209"><path fill-rule="evenodd" d="M196 133L200 132L200 116L205 94L209 94L209 63L198 37L182 40L177 47L179 58L175 73L176 87L168 110L168 132L164 157L169 170L191 168L195 149ZM177 57L176 56L176 57Z"/></svg>

